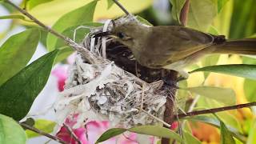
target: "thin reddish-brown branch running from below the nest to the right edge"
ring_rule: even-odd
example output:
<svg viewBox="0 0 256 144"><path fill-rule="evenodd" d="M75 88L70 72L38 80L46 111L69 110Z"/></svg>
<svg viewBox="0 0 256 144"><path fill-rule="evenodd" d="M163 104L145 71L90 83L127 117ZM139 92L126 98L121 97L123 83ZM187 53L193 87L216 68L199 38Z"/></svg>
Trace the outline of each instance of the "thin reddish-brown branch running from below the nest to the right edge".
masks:
<svg viewBox="0 0 256 144"><path fill-rule="evenodd" d="M256 106L256 102L249 102L249 103L239 104L234 106L224 106L224 107L218 107L218 108L208 109L208 110L192 111L186 114L178 114L178 118L185 118L185 117L195 116L200 114L212 114L212 113L217 113L217 112L226 111L226 110L242 109L244 107L250 107L250 106Z"/></svg>

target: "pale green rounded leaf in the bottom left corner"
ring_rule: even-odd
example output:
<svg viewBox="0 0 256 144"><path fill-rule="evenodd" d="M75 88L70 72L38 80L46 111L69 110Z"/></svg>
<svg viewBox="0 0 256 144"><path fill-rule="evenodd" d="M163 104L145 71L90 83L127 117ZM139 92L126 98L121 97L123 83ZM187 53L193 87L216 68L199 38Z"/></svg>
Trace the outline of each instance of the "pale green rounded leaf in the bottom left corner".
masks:
<svg viewBox="0 0 256 144"><path fill-rule="evenodd" d="M26 134L13 118L0 114L0 143L26 144Z"/></svg>

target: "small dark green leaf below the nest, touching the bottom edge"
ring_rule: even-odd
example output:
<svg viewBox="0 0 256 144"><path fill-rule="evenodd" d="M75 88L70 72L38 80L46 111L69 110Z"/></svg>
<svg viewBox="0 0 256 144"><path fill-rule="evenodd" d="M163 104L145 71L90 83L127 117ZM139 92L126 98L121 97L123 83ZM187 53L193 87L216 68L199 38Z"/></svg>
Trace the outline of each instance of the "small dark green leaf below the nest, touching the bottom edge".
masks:
<svg viewBox="0 0 256 144"><path fill-rule="evenodd" d="M97 140L97 142L95 143L98 143L98 142L104 142L110 138L113 138L114 136L117 136L119 134L122 134L126 132L126 129L122 129L122 128L113 128L113 129L110 129L110 130L106 130Z"/></svg>

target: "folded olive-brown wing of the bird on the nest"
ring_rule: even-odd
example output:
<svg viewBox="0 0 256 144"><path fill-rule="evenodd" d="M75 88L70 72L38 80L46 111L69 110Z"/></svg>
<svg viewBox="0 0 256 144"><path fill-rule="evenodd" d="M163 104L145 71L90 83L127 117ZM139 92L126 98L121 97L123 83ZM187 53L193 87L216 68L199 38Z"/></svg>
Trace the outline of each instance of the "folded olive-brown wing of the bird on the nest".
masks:
<svg viewBox="0 0 256 144"><path fill-rule="evenodd" d="M147 47L157 47L154 54L177 62L190 54L213 45L214 37L182 26L154 26ZM167 62L167 63L170 63Z"/></svg>

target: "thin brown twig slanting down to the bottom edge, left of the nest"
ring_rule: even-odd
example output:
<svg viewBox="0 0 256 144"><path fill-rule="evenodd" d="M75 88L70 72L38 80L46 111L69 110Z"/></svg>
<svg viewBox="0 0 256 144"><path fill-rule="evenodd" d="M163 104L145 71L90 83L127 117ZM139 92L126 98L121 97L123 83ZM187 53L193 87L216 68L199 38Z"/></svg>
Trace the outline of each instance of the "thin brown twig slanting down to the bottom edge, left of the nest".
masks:
<svg viewBox="0 0 256 144"><path fill-rule="evenodd" d="M54 135L51 135L51 134L47 134L46 132L43 132L42 130L38 130L38 129L34 128L33 126L29 126L26 123L19 122L19 125L21 125L22 127L26 128L28 130L34 131L37 134L41 134L43 136L46 136L47 138L53 139L56 142L66 144L66 142L64 142L61 138L58 138L58 137L56 137Z"/></svg>

